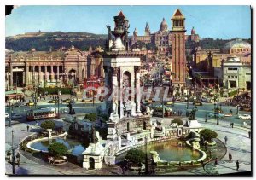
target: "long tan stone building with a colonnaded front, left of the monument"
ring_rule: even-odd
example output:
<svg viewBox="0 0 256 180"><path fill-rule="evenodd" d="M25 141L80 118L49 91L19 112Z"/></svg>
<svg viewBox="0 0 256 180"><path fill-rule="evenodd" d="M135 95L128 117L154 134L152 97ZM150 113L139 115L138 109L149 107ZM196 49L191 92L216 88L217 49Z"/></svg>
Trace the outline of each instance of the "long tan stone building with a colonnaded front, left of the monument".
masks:
<svg viewBox="0 0 256 180"><path fill-rule="evenodd" d="M5 67L9 87L79 84L84 78L104 75L100 55L73 46L58 51L7 53Z"/></svg>

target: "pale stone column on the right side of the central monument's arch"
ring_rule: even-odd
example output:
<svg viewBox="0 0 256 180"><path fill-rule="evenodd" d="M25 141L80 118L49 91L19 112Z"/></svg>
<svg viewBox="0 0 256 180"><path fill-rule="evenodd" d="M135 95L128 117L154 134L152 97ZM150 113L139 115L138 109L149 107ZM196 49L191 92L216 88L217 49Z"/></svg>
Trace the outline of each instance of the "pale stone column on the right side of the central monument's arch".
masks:
<svg viewBox="0 0 256 180"><path fill-rule="evenodd" d="M136 87L136 113L138 116L142 115L141 112L141 67L135 67L135 87Z"/></svg>

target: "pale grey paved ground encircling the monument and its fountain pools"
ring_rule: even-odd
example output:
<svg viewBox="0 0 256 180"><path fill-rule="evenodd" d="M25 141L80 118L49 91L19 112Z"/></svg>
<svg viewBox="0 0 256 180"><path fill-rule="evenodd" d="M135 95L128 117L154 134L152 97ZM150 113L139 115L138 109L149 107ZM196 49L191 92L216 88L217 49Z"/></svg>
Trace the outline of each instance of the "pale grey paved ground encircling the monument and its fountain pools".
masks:
<svg viewBox="0 0 256 180"><path fill-rule="evenodd" d="M157 118L156 118L157 119ZM168 120L168 119L165 119ZM204 167L197 167L185 171L175 171L165 174L170 175L215 175L215 174L224 174L224 173L236 173L241 171L251 171L251 139L248 138L249 129L242 127L241 125L235 125L234 128L231 128L228 122L221 121L220 125L216 125L216 120L207 119L207 123L205 123L205 119L198 119L201 125L205 128L212 129L218 133L218 139L224 142L224 136L228 137L228 141L226 144L227 153L224 155L222 160L219 160L218 165L213 165L213 162L209 162ZM61 119L55 119L56 124L61 125ZM40 121L38 121L40 124ZM35 122L27 122L20 123L16 125L12 125L11 128L6 127L5 136L6 136L6 150L8 150L11 146L11 131L15 131L14 136L14 144L15 144L15 152L18 152L18 144L22 141L23 138L29 136L34 133L33 131L26 131L27 124L33 128ZM228 154L232 154L233 159L232 162L228 162L229 157ZM241 160L240 169L236 171L236 160ZM12 169L11 165L8 165L6 162L6 174L11 174ZM20 167L16 169L17 174L52 174L52 175L74 175L74 174L122 174L122 171L119 170L118 167L113 168L103 168L101 171L87 171L78 165L73 165L68 163L67 165L49 165L42 160L36 160L30 156L21 155L20 158ZM135 172L125 172L126 175L135 174ZM161 174L161 173L156 173Z"/></svg>

